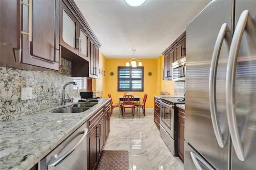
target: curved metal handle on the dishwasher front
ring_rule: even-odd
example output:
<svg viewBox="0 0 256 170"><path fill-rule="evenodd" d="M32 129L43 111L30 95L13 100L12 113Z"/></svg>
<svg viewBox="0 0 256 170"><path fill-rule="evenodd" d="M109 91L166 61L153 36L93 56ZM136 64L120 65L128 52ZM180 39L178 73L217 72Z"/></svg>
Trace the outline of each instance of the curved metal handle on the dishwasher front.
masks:
<svg viewBox="0 0 256 170"><path fill-rule="evenodd" d="M83 141L84 138L86 137L87 132L88 132L88 128L85 128L85 129L81 132L81 134L84 134L84 135L83 135L82 138L75 144L75 146L73 146L70 150L68 150L68 152L66 152L63 156L54 159L51 164L48 164L48 165L47 165L47 170L53 170L53 169L56 168L56 166L58 166L62 161L64 161L66 158L68 158L68 156L70 156L70 155L78 148L78 146L82 143L82 141Z"/></svg>

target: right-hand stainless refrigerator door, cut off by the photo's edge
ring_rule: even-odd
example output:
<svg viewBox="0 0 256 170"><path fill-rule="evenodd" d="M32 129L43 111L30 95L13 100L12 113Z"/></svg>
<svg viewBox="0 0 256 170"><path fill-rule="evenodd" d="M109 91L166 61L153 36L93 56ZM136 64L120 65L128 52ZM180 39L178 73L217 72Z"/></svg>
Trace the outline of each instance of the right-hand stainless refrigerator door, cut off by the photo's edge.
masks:
<svg viewBox="0 0 256 170"><path fill-rule="evenodd" d="M248 10L248 11L245 11ZM234 65L234 97L228 103L234 108L230 123L232 138L232 170L256 169L256 1L235 1L235 32L232 44L238 45L236 65ZM243 13L243 14L242 14ZM241 15L242 14L242 15ZM243 15L247 15L243 21ZM239 20L239 21L238 21ZM244 30L240 27L245 25ZM238 35L238 32L242 34ZM241 37L240 44L236 34ZM230 48L231 50L235 48ZM234 53L234 52L233 52ZM235 53L234 53L235 54ZM234 55L233 54L233 55ZM229 56L232 57L232 56ZM232 63L234 61L231 61ZM227 73L228 74L228 73ZM232 87L230 90L233 91ZM233 100L232 100L233 99ZM227 105L228 107L228 105ZM236 136L237 132L237 138Z"/></svg>

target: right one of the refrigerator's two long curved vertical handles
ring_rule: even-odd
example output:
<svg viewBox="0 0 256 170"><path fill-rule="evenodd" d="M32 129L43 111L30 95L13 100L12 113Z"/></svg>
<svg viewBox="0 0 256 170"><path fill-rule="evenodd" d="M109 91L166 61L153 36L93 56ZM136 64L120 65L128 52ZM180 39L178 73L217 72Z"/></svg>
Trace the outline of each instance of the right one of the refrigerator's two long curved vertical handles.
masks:
<svg viewBox="0 0 256 170"><path fill-rule="evenodd" d="M242 143L240 140L240 135L236 120L236 110L235 110L235 76L236 76L236 61L238 57L238 50L240 47L242 35L247 24L249 17L249 11L244 10L240 18L238 19L236 29L232 38L230 45L230 51L228 54L228 65L227 65L227 75L226 75L226 108L228 116L228 127L230 131L230 136L236 152L236 156L239 160L244 161L244 151ZM229 100L228 100L229 99Z"/></svg>

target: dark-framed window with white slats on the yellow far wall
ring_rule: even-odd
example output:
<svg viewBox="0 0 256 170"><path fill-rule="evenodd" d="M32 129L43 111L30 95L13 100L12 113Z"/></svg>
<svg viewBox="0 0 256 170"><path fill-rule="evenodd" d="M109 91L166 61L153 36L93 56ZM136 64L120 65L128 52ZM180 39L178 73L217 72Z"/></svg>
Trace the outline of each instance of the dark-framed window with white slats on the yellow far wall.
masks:
<svg viewBox="0 0 256 170"><path fill-rule="evenodd" d="M143 67L118 67L118 91L143 91Z"/></svg>

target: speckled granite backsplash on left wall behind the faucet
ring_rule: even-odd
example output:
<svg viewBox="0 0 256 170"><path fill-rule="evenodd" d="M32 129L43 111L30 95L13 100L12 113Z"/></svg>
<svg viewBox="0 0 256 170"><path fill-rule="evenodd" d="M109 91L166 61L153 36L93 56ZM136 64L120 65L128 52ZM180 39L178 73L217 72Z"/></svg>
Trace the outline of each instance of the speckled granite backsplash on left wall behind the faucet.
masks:
<svg viewBox="0 0 256 170"><path fill-rule="evenodd" d="M60 105L63 85L76 81L71 77L71 62L65 59L61 61L59 71L0 67L0 122ZM33 88L31 100L20 101L20 87ZM67 95L80 97L73 85L67 85L65 94L66 98Z"/></svg>

